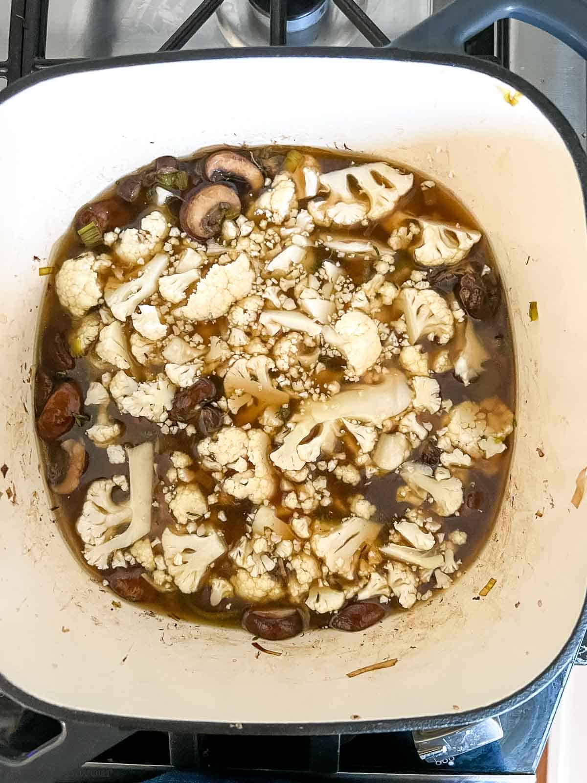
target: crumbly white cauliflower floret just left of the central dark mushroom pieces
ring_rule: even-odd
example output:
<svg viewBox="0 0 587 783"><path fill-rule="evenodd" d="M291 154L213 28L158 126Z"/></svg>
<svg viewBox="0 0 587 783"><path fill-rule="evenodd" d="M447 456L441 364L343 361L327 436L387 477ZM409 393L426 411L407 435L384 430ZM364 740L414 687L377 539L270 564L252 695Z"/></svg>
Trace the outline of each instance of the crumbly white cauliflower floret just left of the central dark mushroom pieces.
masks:
<svg viewBox="0 0 587 783"><path fill-rule="evenodd" d="M164 375L158 375L154 381L137 383L120 370L110 383L110 394L121 413L162 422L173 406L175 386Z"/></svg>

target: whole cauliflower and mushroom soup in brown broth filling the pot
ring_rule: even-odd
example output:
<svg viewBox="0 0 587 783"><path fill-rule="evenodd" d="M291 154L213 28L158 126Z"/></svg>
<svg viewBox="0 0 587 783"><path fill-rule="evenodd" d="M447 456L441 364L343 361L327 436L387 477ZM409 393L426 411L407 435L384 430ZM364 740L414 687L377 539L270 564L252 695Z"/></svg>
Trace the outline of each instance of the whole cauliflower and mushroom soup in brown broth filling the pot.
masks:
<svg viewBox="0 0 587 783"><path fill-rule="evenodd" d="M308 622L362 630L448 587L499 510L514 372L495 259L455 197L415 172L410 184L403 169L323 150L212 156L158 159L81 209L56 245L61 271L45 299L37 375L49 483L63 489L70 475L63 442L83 442L88 457L77 489L52 505L92 575L154 611L242 621L272 640ZM351 165L347 179L322 180ZM366 218L375 206L376 219ZM319 225L339 219L353 225ZM86 247L76 229L96 244ZM337 244L351 241L368 244L352 253ZM97 289L80 304L63 264L88 253ZM167 258L153 291L120 297L143 275L135 288L148 286L159 254ZM210 272L229 275L237 261L238 281L219 278L198 299ZM175 282L185 283L179 293ZM181 350L170 348L179 337ZM248 377L245 404L235 366ZM377 388L386 390L378 398ZM103 404L92 404L100 394ZM338 406L339 416L329 413ZM150 529L98 558L116 536L133 538L128 485L138 488L150 463L131 476L128 455L139 464L133 449L146 442Z"/></svg>

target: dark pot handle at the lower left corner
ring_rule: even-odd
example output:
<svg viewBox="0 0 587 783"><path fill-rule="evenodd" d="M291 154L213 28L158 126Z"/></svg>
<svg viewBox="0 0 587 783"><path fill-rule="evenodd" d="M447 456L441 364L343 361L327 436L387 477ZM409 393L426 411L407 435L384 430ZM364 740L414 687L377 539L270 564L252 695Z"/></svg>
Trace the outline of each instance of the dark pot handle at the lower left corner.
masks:
<svg viewBox="0 0 587 783"><path fill-rule="evenodd" d="M53 783L133 734L112 726L61 721L61 733L25 756L0 755L0 783Z"/></svg>

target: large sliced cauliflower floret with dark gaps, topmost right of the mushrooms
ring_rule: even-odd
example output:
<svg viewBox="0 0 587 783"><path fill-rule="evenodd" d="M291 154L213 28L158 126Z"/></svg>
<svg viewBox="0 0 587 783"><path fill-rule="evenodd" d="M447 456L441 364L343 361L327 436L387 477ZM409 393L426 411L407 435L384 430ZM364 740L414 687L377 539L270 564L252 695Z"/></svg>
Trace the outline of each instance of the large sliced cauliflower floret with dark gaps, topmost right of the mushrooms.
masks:
<svg viewBox="0 0 587 783"><path fill-rule="evenodd" d="M368 204L357 199L351 180ZM308 211L318 226L356 226L365 219L381 220L391 215L413 181L412 174L402 174L384 162L330 171L320 175L321 189L328 191L328 196L310 201Z"/></svg>

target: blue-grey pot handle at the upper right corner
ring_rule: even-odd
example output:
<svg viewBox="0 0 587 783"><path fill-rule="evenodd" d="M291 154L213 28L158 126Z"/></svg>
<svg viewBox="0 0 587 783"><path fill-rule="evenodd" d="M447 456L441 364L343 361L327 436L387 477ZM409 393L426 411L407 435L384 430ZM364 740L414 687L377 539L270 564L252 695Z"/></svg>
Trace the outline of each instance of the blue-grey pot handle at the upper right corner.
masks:
<svg viewBox="0 0 587 783"><path fill-rule="evenodd" d="M587 60L587 0L453 0L390 46L416 52L463 53L465 42L500 19L540 27Z"/></svg>

